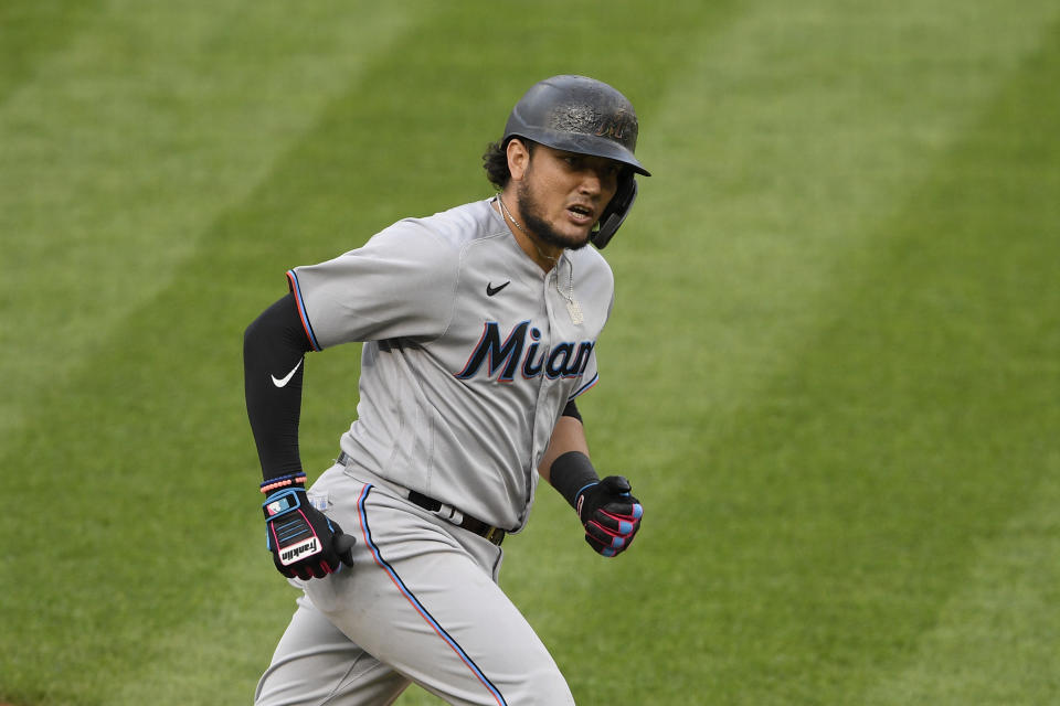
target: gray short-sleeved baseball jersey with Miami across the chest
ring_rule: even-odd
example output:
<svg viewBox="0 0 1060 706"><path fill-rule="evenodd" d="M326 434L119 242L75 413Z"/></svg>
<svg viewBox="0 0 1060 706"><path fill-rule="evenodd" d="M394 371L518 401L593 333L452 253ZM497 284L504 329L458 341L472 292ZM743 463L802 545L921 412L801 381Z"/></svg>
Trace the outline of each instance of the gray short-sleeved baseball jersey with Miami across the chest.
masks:
<svg viewBox="0 0 1060 706"><path fill-rule="evenodd" d="M494 201L400 221L288 278L317 350L365 342L342 450L379 477L518 531L563 407L596 383L614 278L589 247L543 272Z"/></svg>

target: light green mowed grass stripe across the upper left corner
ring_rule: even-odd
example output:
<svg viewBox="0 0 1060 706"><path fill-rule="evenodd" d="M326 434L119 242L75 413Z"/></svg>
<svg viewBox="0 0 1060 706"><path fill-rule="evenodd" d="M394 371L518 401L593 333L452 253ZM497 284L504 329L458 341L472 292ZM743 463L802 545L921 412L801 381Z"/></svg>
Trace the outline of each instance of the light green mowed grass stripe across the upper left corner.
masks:
<svg viewBox="0 0 1060 706"><path fill-rule="evenodd" d="M77 31L55 22L73 32L61 50L19 50L29 77L0 103L0 436L169 286L417 13L110 0L61 14Z"/></svg>

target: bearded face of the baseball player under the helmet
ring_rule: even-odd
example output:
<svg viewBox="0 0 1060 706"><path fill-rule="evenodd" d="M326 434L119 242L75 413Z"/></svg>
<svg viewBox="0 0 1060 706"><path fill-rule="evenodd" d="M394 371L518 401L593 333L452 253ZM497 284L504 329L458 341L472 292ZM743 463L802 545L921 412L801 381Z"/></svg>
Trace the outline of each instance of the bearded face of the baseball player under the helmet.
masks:
<svg viewBox="0 0 1060 706"><path fill-rule="evenodd" d="M615 195L621 171L611 159L536 146L516 189L523 223L548 245L584 247Z"/></svg>

